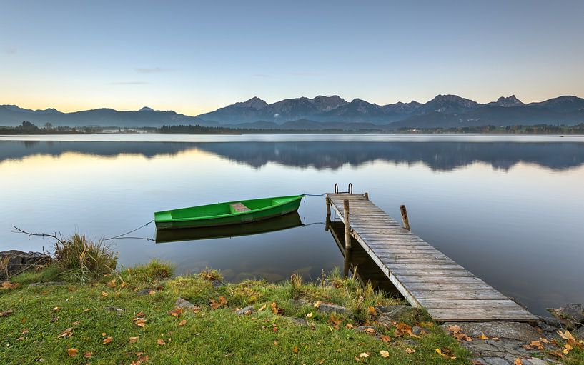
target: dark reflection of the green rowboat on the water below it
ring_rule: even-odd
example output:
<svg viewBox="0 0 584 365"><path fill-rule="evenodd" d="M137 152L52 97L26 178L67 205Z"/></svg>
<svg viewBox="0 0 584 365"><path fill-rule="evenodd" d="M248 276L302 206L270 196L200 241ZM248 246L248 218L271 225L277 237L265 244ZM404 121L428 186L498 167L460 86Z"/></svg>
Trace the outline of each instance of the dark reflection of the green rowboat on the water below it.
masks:
<svg viewBox="0 0 584 365"><path fill-rule="evenodd" d="M179 241L196 241L199 239L220 239L226 237L248 236L267 232L282 231L297 226L302 226L302 221L297 211L279 216L277 218L254 221L246 224L234 224L231 226L212 226L189 229L158 229L156 231L156 243Z"/></svg>

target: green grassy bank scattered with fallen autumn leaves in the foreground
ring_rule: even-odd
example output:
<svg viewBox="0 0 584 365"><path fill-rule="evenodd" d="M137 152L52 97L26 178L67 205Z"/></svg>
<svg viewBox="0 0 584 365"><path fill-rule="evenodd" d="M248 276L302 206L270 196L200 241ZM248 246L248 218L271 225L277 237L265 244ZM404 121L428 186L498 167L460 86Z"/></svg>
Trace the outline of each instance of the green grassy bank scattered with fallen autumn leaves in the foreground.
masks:
<svg viewBox="0 0 584 365"><path fill-rule="evenodd" d="M365 321L375 325L370 314L336 316L341 322L335 328L330 316L316 311L313 302L353 310L399 302L370 287L362 288L352 279L332 275L318 284L292 279L283 284L243 281L214 288L204 275L170 278L172 269L172 265L156 261L122 269L89 285L26 285L39 278L50 279L54 271L14 278L21 283L19 288L0 291L0 311L14 311L0 318L0 364L33 364L39 359L44 364L130 364L138 359L137 352L149 356L147 364L320 364L322 360L322 364L352 364L363 352L370 353L360 359L367 364L467 364L466 351L432 324L429 334L416 339L394 337L391 329L379 329L380 334L392 336L389 343L346 327ZM139 295L137 290L145 287L155 290ZM170 315L178 296L199 306L199 313ZM212 309L210 301L221 296L227 306ZM294 304L289 301L292 297L306 304ZM284 309L283 314L272 313L272 302ZM245 316L234 313L247 305L255 309L265 305L266 309ZM125 310L107 310L109 306ZM133 321L141 311L144 328ZM289 319L307 318L310 313L310 326ZM186 324L179 326L183 319ZM57 338L71 327L71 337ZM112 341L103 344L109 336ZM130 344L129 338L134 336L139 339ZM157 344L159 339L165 344ZM407 354L407 347L415 353ZM442 358L435 352L437 347L451 349L457 359ZM70 357L67 349L78 349L77 356ZM389 357L380 356L381 350L388 351ZM91 359L84 358L87 351L91 351Z"/></svg>

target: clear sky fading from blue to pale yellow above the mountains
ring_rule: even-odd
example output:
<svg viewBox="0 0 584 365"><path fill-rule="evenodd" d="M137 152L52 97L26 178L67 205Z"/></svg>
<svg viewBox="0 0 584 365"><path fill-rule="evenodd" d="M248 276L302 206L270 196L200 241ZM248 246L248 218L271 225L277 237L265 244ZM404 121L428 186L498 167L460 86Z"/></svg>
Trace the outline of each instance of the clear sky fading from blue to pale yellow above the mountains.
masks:
<svg viewBox="0 0 584 365"><path fill-rule="evenodd" d="M0 0L0 104L584 96L584 1L411 2Z"/></svg>

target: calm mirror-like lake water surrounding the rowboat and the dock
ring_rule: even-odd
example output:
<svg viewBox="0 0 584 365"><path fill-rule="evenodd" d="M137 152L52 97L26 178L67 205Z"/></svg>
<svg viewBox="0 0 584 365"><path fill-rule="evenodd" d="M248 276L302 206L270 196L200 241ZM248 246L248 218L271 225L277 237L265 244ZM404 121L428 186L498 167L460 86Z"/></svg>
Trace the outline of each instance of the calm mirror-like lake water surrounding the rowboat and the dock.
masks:
<svg viewBox="0 0 584 365"><path fill-rule="evenodd" d="M393 135L0 136L0 251L50 241L11 231L114 236L184 206L332 191L370 199L535 314L584 302L584 138ZM159 258L229 281L317 279L342 268L325 199L293 228L249 236L115 242L119 264ZM314 224L312 224L314 223ZM154 224L134 234L153 239ZM359 269L357 269L359 271Z"/></svg>

